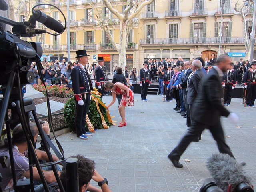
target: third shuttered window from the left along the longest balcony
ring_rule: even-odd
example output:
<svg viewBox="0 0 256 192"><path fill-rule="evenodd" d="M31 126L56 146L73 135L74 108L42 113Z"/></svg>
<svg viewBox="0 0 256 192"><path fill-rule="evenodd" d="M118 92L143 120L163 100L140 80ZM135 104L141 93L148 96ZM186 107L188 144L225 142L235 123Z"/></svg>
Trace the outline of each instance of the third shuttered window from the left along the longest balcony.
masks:
<svg viewBox="0 0 256 192"><path fill-rule="evenodd" d="M190 41L202 42L206 36L206 23L190 24Z"/></svg>

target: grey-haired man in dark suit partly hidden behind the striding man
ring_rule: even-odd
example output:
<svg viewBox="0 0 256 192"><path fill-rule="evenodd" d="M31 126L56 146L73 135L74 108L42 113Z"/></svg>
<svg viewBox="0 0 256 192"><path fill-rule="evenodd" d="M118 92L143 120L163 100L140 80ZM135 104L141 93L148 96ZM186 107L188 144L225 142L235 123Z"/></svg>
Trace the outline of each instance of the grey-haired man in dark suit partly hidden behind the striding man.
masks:
<svg viewBox="0 0 256 192"><path fill-rule="evenodd" d="M205 74L202 72L202 63L200 60L196 59L191 64L191 70L193 71L190 76L188 77L188 84L187 84L187 103L188 103L188 113L187 113L187 125L190 126L192 122L192 118L190 116L190 110L192 107L192 104L194 104L194 101L196 99L196 96L198 95L199 89L200 89L200 82L204 78ZM204 70L204 69L203 69ZM198 135L199 140L201 138L201 134ZM196 139L198 141L198 138Z"/></svg>

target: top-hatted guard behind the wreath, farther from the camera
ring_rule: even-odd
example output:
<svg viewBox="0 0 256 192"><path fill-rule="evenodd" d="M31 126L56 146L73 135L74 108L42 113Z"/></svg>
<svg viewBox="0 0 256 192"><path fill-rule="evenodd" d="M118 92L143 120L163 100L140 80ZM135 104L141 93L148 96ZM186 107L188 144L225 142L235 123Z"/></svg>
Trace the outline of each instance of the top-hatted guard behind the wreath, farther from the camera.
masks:
<svg viewBox="0 0 256 192"><path fill-rule="evenodd" d="M104 66L104 58L98 57L98 66L95 69L95 86L98 89L98 92L101 93L101 98L103 97L103 86L106 82L106 75L103 71L102 66Z"/></svg>

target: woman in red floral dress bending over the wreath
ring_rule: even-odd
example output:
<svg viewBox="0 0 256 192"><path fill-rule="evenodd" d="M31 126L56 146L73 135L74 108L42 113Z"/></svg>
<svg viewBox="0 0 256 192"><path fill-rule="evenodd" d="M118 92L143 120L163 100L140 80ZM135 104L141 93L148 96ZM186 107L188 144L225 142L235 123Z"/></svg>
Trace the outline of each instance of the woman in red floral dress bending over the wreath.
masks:
<svg viewBox="0 0 256 192"><path fill-rule="evenodd" d="M126 120L125 120L125 107L126 106L134 106L134 94L130 88L128 88L126 85L122 83L115 83L112 82L106 82L104 84L105 91L112 90L112 97L113 100L110 102L110 104L107 106L107 109L114 104L116 101L116 94L122 95L122 99L120 102L120 105L118 107L119 114L122 118L122 121L119 123L118 127L126 126Z"/></svg>

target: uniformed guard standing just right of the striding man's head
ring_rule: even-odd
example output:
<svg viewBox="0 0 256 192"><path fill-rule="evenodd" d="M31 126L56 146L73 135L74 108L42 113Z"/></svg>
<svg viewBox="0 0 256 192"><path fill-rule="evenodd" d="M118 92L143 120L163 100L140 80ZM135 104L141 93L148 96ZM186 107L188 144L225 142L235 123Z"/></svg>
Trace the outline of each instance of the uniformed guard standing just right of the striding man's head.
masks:
<svg viewBox="0 0 256 192"><path fill-rule="evenodd" d="M232 99L232 90L235 88L238 81L238 72L233 69L233 63L230 63L228 71L224 73L222 86L224 88L224 105L230 106Z"/></svg>

